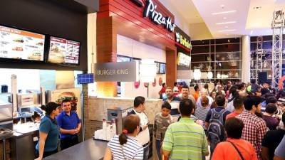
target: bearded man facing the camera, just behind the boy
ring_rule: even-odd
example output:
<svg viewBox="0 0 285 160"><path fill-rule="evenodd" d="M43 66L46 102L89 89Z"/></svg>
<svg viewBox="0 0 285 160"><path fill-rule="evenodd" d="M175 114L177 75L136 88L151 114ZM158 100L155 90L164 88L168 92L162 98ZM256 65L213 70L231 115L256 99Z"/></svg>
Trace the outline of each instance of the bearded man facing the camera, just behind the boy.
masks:
<svg viewBox="0 0 285 160"><path fill-rule="evenodd" d="M180 114L178 112L178 107L179 107L179 103L181 101L180 97L175 97L173 96L173 92L172 92L172 88L171 87L167 87L165 90L166 93L166 99L164 100L164 102L168 102L171 105L171 115L177 115Z"/></svg>

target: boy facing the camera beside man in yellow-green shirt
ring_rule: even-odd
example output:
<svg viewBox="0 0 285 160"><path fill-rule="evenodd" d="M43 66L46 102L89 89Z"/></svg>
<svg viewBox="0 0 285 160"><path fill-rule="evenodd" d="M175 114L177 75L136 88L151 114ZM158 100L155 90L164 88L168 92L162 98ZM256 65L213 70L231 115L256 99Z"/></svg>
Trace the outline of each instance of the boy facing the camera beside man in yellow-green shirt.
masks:
<svg viewBox="0 0 285 160"><path fill-rule="evenodd" d="M153 134L155 135L155 146L158 159L162 159L160 153L160 146L165 137L167 127L172 123L172 116L170 115L171 105L168 102L162 104L161 112L155 115L155 126Z"/></svg>

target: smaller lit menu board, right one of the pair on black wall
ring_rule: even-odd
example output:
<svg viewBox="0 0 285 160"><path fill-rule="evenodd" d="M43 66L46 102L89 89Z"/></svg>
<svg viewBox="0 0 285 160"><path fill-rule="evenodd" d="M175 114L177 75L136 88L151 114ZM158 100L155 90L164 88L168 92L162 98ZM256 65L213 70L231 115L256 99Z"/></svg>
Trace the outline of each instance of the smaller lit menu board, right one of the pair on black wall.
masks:
<svg viewBox="0 0 285 160"><path fill-rule="evenodd" d="M51 36L48 62L78 64L79 49L79 42Z"/></svg>

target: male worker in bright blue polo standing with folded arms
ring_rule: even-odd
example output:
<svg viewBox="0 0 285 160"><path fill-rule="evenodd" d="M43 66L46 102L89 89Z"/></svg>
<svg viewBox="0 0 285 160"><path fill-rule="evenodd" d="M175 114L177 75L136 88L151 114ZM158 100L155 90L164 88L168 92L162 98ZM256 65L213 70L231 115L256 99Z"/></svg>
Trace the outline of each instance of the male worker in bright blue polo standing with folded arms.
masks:
<svg viewBox="0 0 285 160"><path fill-rule="evenodd" d="M69 100L63 100L61 107L63 112L58 114L56 120L61 132L61 149L67 149L78 144L77 134L81 129L81 120L76 112L71 111L71 102Z"/></svg>

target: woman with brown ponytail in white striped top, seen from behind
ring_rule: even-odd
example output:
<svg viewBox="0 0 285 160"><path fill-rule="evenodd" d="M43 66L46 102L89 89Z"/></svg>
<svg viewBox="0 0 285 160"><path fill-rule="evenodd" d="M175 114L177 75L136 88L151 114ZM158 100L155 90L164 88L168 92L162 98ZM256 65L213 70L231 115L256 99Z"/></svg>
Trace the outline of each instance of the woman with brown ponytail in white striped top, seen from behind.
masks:
<svg viewBox="0 0 285 160"><path fill-rule="evenodd" d="M130 114L125 117L123 132L114 136L108 143L104 160L143 159L143 147L135 139L140 131L140 117Z"/></svg>

